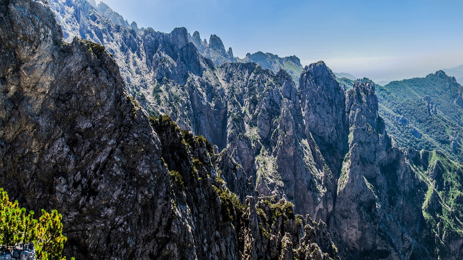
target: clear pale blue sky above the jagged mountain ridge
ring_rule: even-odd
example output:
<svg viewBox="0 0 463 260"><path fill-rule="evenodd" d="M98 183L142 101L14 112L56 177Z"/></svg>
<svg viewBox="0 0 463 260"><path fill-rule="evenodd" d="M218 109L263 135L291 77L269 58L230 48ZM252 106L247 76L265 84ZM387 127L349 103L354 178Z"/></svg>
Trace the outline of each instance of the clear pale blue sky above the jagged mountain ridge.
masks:
<svg viewBox="0 0 463 260"><path fill-rule="evenodd" d="M97 3L99 1L97 0ZM218 35L234 56L296 55L375 81L463 64L463 0L104 0L138 27Z"/></svg>

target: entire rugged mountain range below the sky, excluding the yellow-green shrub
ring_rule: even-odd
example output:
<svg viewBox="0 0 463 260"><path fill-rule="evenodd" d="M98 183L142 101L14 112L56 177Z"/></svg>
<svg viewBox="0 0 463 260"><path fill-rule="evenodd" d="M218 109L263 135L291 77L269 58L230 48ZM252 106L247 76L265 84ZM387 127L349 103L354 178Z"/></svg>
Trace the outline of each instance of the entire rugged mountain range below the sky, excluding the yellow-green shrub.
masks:
<svg viewBox="0 0 463 260"><path fill-rule="evenodd" d="M87 0L0 19L0 186L62 212L67 255L462 258L463 92L443 71L382 87L241 60Z"/></svg>

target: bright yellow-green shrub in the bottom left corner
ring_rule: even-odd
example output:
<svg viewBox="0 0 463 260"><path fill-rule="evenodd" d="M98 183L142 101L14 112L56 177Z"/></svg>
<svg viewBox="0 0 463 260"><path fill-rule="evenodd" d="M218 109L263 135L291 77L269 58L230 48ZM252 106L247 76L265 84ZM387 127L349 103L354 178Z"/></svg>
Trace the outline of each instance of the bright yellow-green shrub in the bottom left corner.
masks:
<svg viewBox="0 0 463 260"><path fill-rule="evenodd" d="M57 210L34 219L34 211L26 214L18 201L10 202L8 194L0 188L0 244L13 246L33 242L39 260L64 260L62 255L67 237L62 234L62 216ZM73 258L74 259L74 258Z"/></svg>

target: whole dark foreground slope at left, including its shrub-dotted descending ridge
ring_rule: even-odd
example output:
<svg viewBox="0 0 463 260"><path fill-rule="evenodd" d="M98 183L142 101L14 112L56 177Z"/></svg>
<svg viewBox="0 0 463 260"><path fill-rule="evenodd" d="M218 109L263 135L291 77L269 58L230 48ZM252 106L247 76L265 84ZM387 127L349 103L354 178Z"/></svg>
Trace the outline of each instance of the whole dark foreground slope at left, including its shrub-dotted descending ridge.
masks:
<svg viewBox="0 0 463 260"><path fill-rule="evenodd" d="M63 214L65 254L337 258L326 228L284 199L241 204L220 178L239 165L169 116L149 119L104 47L64 43L47 3L2 1L0 19L0 186Z"/></svg>

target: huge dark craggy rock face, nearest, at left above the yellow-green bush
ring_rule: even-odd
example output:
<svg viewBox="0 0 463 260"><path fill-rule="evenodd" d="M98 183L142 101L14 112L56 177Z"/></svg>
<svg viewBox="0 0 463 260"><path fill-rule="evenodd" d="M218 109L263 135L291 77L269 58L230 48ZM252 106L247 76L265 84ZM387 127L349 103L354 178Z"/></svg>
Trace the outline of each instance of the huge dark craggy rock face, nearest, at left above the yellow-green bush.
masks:
<svg viewBox="0 0 463 260"><path fill-rule="evenodd" d="M170 208L147 117L103 47L63 44L47 4L1 6L1 185L33 210L62 212L75 256L130 255L142 205Z"/></svg>

